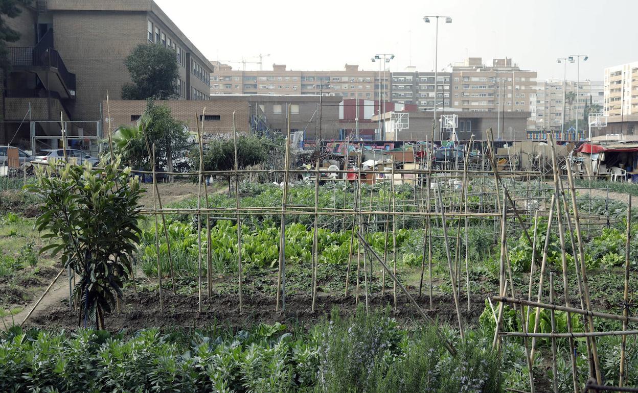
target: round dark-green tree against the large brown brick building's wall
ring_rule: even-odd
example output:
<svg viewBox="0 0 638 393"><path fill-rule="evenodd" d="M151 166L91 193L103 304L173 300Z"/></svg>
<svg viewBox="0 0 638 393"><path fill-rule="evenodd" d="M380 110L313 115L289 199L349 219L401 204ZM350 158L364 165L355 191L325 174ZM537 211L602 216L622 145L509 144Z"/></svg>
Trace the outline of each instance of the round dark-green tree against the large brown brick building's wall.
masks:
<svg viewBox="0 0 638 393"><path fill-rule="evenodd" d="M177 96L175 51L156 44L140 44L124 61L133 84L122 86L122 99L172 99Z"/></svg>

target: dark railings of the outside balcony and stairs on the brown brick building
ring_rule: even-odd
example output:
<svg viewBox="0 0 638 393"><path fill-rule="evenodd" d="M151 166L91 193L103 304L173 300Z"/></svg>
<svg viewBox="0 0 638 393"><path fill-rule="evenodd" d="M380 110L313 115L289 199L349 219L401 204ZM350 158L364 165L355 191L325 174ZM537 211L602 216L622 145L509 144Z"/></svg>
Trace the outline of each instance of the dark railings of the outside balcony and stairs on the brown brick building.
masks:
<svg viewBox="0 0 638 393"><path fill-rule="evenodd" d="M75 74L69 72L59 52L53 48L52 30L34 47L12 46L8 50L13 72L35 73L48 90L57 92L63 99L75 99ZM53 73L54 78L48 73Z"/></svg>

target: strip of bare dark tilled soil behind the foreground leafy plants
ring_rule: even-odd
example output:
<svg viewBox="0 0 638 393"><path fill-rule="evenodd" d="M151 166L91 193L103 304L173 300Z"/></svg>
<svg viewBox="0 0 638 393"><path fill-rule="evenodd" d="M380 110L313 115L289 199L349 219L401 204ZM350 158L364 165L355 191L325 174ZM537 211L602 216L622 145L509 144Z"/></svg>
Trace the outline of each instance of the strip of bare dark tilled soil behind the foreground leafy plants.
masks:
<svg viewBox="0 0 638 393"><path fill-rule="evenodd" d="M439 322L449 322L457 325L456 308L451 296L436 296L433 298L433 309L429 310L429 297L416 297L420 307L432 318ZM325 315L330 315L333 307L338 306L341 315L349 315L356 308L355 296L318 296L315 311L312 311L312 300L309 296L286 297L286 310L275 311L274 297L244 296L242 313L239 313L239 296L214 294L212 297L203 297L202 312L198 311L197 295L164 295L164 310L159 308L157 293L129 294L122 305L121 312L107 315L105 323L110 330L121 329L137 330L145 327L195 327L205 328L214 324L223 324L228 327L245 329L246 327L264 322L285 323L294 319L295 324L309 326L315 324ZM365 299L360 297L359 303L365 305ZM393 303L392 294L385 296L375 295L369 297L370 308L383 308ZM471 310L467 310L467 304L462 303L462 315L466 323L475 324L484 309L484 298L472 299ZM397 310L392 314L398 320L419 320L420 315L415 306L407 297L397 297ZM70 311L68 307L51 306L46 310L36 313L26 325L32 327L73 328L78 323L77 311Z"/></svg>

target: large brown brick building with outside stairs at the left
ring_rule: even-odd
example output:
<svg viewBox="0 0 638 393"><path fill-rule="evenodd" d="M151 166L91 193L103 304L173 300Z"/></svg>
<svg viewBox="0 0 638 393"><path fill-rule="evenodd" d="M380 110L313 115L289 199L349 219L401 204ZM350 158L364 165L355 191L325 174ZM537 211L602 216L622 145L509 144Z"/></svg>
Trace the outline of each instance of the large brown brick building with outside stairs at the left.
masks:
<svg viewBox="0 0 638 393"><path fill-rule="evenodd" d="M52 136L50 143L59 139L54 122L61 112L65 120L85 122L68 124L70 135L100 136L107 117L101 103L107 92L111 99L121 98L122 85L131 82L124 59L140 44L174 50L180 99L209 99L209 62L152 0L34 1L11 24L22 39L9 51L13 71L4 96L15 99L3 101L4 118L18 116L13 108L20 118L28 108L44 113L36 133ZM22 128L26 134L20 130L17 138L28 140L29 127Z"/></svg>

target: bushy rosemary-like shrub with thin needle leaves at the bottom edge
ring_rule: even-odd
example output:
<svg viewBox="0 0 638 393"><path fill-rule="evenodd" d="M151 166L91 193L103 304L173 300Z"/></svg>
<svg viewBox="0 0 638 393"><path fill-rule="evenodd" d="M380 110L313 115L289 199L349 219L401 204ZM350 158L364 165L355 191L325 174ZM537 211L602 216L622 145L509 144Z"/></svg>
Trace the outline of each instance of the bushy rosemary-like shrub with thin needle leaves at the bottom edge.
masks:
<svg viewBox="0 0 638 393"><path fill-rule="evenodd" d="M452 356L434 325L408 332L389 317L389 310L366 313L359 308L345 319L333 311L315 337L317 393L502 391L500 355L481 334L457 341L458 353Z"/></svg>

